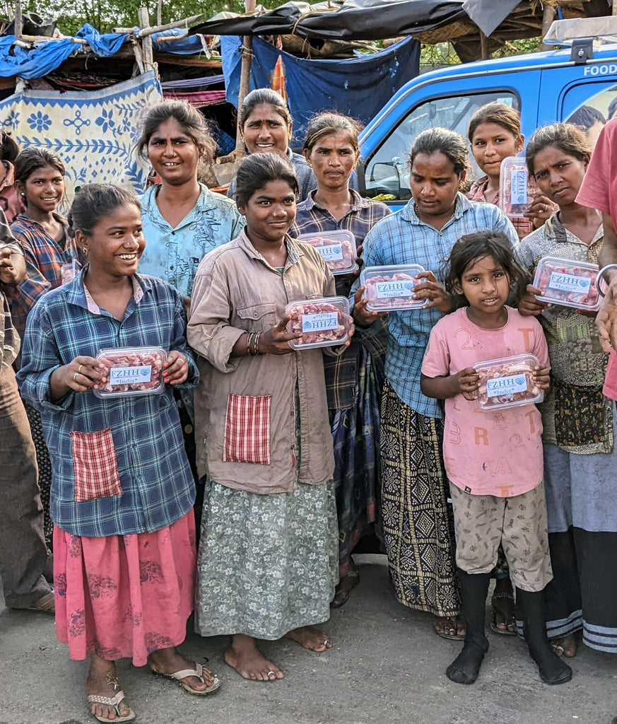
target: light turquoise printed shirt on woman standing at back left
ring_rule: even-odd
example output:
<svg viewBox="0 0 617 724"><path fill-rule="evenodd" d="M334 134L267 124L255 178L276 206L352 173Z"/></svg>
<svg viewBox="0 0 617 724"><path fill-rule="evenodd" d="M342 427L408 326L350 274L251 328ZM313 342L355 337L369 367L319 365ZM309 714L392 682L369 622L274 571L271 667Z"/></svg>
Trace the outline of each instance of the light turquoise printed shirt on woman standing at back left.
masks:
<svg viewBox="0 0 617 724"><path fill-rule="evenodd" d="M146 247L140 259L140 274L150 274L169 282L184 297L190 297L197 266L208 253L239 235L244 216L234 201L200 184L197 203L172 228L158 210L156 197L161 185L142 196L141 218Z"/></svg>

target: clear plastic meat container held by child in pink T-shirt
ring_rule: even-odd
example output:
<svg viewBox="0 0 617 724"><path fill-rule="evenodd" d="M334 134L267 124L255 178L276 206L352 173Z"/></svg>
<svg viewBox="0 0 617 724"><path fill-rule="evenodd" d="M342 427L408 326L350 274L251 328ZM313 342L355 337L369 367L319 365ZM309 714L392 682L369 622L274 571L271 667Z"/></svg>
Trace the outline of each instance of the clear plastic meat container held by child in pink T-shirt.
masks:
<svg viewBox="0 0 617 724"><path fill-rule="evenodd" d="M480 375L476 405L483 411L503 410L539 403L544 391L537 387L532 373L540 364L535 355L514 355L474 365Z"/></svg>

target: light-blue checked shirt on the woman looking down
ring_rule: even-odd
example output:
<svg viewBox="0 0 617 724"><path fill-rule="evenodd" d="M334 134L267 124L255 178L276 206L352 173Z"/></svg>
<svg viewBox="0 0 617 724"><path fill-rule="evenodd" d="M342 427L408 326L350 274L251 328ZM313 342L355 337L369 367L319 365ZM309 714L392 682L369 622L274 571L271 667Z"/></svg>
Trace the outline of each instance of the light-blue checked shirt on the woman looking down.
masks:
<svg viewBox="0 0 617 724"><path fill-rule="evenodd" d="M421 264L433 271L443 284L443 266L456 240L482 230L503 232L513 247L519 243L508 217L492 203L472 203L459 193L452 218L437 230L420 221L414 211L414 200L410 199L401 211L387 216L368 232L362 256L365 266ZM357 287L359 282L354 285ZM443 413L438 400L420 392L422 358L430 330L440 317L441 312L435 308L388 314L386 377L402 402L420 415L441 419ZM360 332L371 333L370 329Z"/></svg>

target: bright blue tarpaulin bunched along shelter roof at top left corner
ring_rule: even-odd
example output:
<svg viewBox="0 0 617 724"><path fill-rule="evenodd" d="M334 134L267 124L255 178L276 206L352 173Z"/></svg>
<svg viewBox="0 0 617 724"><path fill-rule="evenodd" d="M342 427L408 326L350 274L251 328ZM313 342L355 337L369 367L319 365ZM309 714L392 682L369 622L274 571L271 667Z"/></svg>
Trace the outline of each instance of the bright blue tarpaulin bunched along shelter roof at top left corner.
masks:
<svg viewBox="0 0 617 724"><path fill-rule="evenodd" d="M180 40L158 43L157 38L170 35L186 35ZM86 23L77 31L76 38L88 41L88 45L99 57L116 54L129 35L124 33L105 33L101 35L92 25ZM41 78L56 70L67 58L82 46L72 38L46 38L35 41L31 49L15 45L14 35L0 36L0 77L19 75L30 80ZM166 53L192 54L203 52L203 46L197 35L187 35L186 30L167 30L153 35L154 47Z"/></svg>

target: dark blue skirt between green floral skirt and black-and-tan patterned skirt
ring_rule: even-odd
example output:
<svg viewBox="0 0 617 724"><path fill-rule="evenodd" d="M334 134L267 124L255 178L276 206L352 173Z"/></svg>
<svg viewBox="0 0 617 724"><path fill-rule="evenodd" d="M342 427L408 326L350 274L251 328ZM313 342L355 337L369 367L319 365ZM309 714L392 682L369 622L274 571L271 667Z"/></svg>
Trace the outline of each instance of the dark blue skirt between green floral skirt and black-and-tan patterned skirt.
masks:
<svg viewBox="0 0 617 724"><path fill-rule="evenodd" d="M380 381L367 350L359 353L357 403L350 410L331 410L334 442L334 489L339 518L339 576L351 568L359 539L375 522L380 477Z"/></svg>

